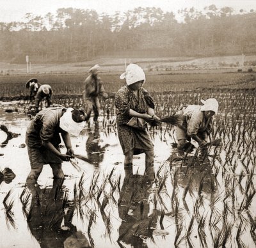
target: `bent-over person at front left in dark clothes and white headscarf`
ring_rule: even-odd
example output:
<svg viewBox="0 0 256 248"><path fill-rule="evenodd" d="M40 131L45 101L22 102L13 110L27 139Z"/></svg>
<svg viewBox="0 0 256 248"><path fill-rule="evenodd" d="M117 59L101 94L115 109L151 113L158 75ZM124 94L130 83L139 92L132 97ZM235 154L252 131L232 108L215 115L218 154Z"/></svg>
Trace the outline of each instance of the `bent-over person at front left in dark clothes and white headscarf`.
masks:
<svg viewBox="0 0 256 248"><path fill-rule="evenodd" d="M37 182L44 164L51 166L54 178L63 178L61 163L74 154L70 134L78 136L85 119L83 111L65 107L49 107L36 114L26 132L31 165L27 183ZM60 134L67 148L66 154L60 152Z"/></svg>

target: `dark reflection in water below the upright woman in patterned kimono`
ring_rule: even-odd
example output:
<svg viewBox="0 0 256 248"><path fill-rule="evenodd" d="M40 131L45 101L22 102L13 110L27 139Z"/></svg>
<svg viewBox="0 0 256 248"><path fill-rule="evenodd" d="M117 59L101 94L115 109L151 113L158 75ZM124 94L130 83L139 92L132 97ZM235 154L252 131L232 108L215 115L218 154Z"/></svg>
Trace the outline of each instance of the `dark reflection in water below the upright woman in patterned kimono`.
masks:
<svg viewBox="0 0 256 248"><path fill-rule="evenodd" d="M124 184L118 202L118 213L122 219L118 242L122 241L132 247L147 247L143 241L148 237L152 238L157 222L155 212L149 212L148 196L152 184L148 174L132 174L132 167L125 169Z"/></svg>

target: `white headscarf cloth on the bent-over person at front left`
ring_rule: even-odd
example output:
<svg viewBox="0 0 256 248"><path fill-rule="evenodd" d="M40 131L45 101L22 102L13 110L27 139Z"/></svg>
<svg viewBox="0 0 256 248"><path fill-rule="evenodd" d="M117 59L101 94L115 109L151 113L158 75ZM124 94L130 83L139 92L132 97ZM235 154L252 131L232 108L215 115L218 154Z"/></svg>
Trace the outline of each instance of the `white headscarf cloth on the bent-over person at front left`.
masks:
<svg viewBox="0 0 256 248"><path fill-rule="evenodd" d="M68 132L71 135L79 136L81 130L83 130L85 121L76 122L72 119L72 107L68 107L67 111L60 118L60 128Z"/></svg>

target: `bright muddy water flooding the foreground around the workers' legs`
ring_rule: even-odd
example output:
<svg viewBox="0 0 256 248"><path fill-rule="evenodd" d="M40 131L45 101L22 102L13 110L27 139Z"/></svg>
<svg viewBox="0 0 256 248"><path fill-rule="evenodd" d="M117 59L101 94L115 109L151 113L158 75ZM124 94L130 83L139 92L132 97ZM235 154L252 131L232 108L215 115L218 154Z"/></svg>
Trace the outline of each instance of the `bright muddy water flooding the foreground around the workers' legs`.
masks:
<svg viewBox="0 0 256 248"><path fill-rule="evenodd" d="M72 145L93 164L76 160L78 171L63 162L61 190L51 167L45 165L38 178L40 199L32 199L29 190L20 199L30 171L22 144L31 120L19 106L11 113L4 112L6 107L0 107L0 123L20 135L0 148L1 170L9 167L16 174L12 182L0 184L0 247L213 247L218 236L224 242L225 234L226 247L239 247L239 242L255 247L248 214L238 212L244 192L232 183L237 176L231 172L227 176L221 169L225 151L219 151L216 161L209 157L203 162L194 159L193 166L170 164L166 160L172 153L172 130L151 133L157 178L152 181L144 174L144 155L134 156L132 171L124 170L115 128L102 128L102 119L99 128L86 125L78 137L71 137ZM6 139L2 131L0 138L0 143ZM193 160L192 155L188 160ZM239 169L241 164L237 174ZM246 180L241 183L246 185ZM8 211L3 201L11 189L6 203L13 201L13 206ZM252 219L255 207L253 199L248 208Z"/></svg>

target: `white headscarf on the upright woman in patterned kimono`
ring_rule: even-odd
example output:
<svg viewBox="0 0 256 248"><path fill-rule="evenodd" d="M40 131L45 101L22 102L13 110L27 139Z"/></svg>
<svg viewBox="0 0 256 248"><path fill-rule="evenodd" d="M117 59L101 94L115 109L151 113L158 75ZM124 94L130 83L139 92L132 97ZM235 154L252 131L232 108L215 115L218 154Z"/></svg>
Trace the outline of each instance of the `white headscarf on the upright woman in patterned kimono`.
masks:
<svg viewBox="0 0 256 248"><path fill-rule="evenodd" d="M120 79L125 79L127 85L134 84L138 81L146 81L146 76L143 69L136 64L129 64L125 72L120 75Z"/></svg>

